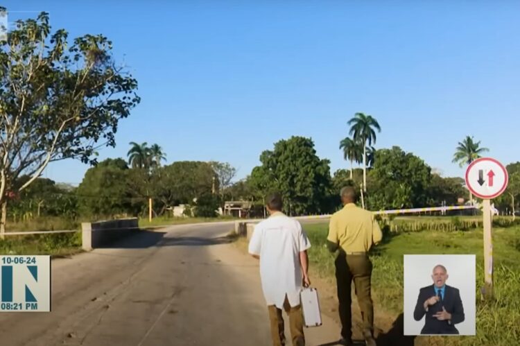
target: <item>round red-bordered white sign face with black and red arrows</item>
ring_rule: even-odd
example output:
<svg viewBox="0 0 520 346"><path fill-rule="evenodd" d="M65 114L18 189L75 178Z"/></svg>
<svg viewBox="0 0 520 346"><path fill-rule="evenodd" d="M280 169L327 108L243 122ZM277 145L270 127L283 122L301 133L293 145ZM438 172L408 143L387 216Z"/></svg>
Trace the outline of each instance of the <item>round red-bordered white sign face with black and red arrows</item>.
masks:
<svg viewBox="0 0 520 346"><path fill-rule="evenodd" d="M496 159L476 159L466 170L466 186L478 198L491 200L508 187L508 171Z"/></svg>

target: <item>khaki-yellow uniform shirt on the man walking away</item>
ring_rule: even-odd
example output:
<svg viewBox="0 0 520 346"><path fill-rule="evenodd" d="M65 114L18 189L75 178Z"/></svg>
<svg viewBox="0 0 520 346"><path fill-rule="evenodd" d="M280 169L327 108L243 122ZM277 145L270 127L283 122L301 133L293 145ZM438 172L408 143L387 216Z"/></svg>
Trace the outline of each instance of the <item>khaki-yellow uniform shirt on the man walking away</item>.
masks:
<svg viewBox="0 0 520 346"><path fill-rule="evenodd" d="M336 211L329 223L327 240L338 244L345 252L368 252L383 238L372 212L349 203Z"/></svg>

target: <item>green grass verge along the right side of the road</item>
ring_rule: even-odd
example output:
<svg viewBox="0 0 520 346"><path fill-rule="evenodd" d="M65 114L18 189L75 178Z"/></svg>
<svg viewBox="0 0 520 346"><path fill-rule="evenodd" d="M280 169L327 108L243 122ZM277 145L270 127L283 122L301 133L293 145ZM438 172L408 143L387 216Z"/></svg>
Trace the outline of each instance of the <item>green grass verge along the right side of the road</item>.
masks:
<svg viewBox="0 0 520 346"><path fill-rule="evenodd" d="M311 266L334 276L333 255L324 248L327 224L306 225ZM520 227L494 228L494 300L480 300L483 278L483 231L417 231L386 235L371 254L372 295L376 306L397 318L403 311L404 254L476 254L476 336L424 338L428 345L518 345L520 340Z"/></svg>

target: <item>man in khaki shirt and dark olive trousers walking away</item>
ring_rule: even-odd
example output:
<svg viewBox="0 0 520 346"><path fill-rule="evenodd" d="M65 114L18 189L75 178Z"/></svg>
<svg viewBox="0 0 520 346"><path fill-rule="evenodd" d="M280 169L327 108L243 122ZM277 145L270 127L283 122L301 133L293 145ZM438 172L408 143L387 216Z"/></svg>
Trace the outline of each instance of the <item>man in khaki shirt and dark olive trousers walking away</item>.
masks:
<svg viewBox="0 0 520 346"><path fill-rule="evenodd" d="M344 207L331 217L327 236L329 250L339 250L336 257L336 284L342 325L340 343L352 345L351 283L354 280L363 318L363 336L368 346L376 346L374 306L370 293L372 261L368 252L372 245L381 241L383 234L372 212L356 206L356 190L353 187L341 190L341 201Z"/></svg>

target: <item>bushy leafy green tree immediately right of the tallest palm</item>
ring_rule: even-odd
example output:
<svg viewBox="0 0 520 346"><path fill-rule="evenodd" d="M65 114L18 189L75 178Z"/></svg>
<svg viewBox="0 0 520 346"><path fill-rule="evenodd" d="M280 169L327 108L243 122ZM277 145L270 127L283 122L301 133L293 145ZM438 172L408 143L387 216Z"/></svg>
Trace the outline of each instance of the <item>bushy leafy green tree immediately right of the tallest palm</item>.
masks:
<svg viewBox="0 0 520 346"><path fill-rule="evenodd" d="M421 158L398 146L377 150L375 156L367 198L371 209L426 205L431 168Z"/></svg>

